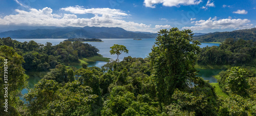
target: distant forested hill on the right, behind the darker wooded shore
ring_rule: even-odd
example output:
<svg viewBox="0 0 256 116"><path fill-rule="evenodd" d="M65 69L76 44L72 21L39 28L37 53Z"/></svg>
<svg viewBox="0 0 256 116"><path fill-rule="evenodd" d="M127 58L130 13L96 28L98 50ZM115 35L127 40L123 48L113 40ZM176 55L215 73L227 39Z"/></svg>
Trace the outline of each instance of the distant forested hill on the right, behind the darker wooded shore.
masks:
<svg viewBox="0 0 256 116"><path fill-rule="evenodd" d="M223 42L227 38L256 41L256 28L236 30L232 32L208 33L205 35L194 36L193 40L199 40L200 42Z"/></svg>

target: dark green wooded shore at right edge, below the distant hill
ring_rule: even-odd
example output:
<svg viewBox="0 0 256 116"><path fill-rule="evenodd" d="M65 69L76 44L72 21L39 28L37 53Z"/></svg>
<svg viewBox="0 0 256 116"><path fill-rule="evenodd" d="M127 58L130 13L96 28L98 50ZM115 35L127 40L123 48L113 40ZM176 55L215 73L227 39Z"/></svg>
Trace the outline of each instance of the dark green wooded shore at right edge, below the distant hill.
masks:
<svg viewBox="0 0 256 116"><path fill-rule="evenodd" d="M256 42L227 38L220 46L204 47L199 65L256 66Z"/></svg>

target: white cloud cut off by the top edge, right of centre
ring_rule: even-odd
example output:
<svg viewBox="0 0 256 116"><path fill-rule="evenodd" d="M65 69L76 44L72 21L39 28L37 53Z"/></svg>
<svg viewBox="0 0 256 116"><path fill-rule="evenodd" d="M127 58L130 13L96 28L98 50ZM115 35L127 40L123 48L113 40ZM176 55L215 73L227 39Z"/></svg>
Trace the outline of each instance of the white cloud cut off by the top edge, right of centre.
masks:
<svg viewBox="0 0 256 116"><path fill-rule="evenodd" d="M144 0L144 6L156 8L155 4L163 4L166 7L180 5L198 5L202 0Z"/></svg>

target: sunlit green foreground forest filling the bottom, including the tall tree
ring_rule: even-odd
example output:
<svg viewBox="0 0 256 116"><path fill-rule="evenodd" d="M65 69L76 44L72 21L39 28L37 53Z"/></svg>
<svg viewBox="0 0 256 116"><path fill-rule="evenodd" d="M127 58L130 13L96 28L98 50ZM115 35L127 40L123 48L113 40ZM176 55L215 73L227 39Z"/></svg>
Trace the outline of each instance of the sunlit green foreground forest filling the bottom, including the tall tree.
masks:
<svg viewBox="0 0 256 116"><path fill-rule="evenodd" d="M3 45L0 60L18 59L10 64L20 70L13 70L16 73L10 77L19 83L10 92L15 100L10 101L9 112L1 109L1 114L256 115L255 68L232 67L221 72L218 81L228 97L219 97L208 81L196 76L201 49L199 41L189 43L192 36L190 30L160 30L156 45L145 59L128 56L101 68L83 65L75 69L58 64L25 95L27 104L18 99L18 89L25 88L27 78L21 67L22 56L17 53L20 51ZM112 47L113 54L120 53L116 48L123 46ZM1 61L1 74L2 66Z"/></svg>

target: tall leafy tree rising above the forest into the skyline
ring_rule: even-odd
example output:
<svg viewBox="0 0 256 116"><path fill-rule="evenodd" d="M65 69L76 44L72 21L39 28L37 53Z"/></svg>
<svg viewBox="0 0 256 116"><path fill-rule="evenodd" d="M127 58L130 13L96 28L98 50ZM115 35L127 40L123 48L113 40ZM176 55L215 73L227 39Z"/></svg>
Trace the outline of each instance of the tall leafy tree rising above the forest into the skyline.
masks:
<svg viewBox="0 0 256 116"><path fill-rule="evenodd" d="M190 30L179 31L178 28L172 28L158 33L150 60L154 68L158 100L167 105L172 101L175 89L187 89L196 78L197 70L194 65L200 43L189 43L193 36Z"/></svg>

